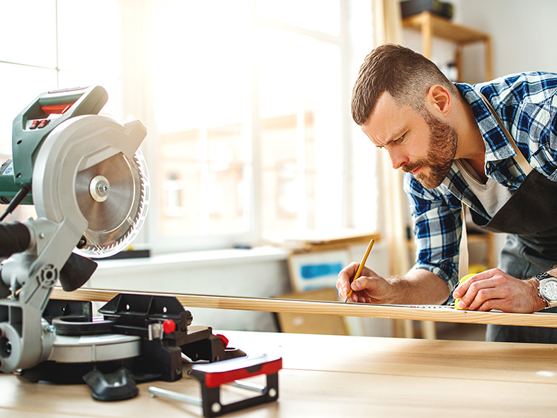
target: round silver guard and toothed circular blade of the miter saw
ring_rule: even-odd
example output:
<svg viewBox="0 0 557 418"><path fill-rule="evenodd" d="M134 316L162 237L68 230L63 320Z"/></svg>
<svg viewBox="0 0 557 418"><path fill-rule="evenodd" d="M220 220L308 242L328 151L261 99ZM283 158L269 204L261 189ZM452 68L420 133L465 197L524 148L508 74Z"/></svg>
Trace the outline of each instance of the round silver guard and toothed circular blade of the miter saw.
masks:
<svg viewBox="0 0 557 418"><path fill-rule="evenodd" d="M33 171L33 201L39 217L65 229L70 252L111 256L139 233L150 194L139 150L145 137L140 121L121 125L88 115L61 123L45 139ZM54 252L62 251L59 245Z"/></svg>

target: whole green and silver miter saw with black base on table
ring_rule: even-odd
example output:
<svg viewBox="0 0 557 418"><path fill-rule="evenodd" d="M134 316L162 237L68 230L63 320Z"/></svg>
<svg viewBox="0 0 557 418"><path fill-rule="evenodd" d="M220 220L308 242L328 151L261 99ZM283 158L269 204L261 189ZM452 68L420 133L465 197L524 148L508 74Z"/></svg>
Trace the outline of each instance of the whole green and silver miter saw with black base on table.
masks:
<svg viewBox="0 0 557 418"><path fill-rule="evenodd" d="M174 297L120 294L99 309L100 320L91 302L49 300L58 281L72 291L91 277L90 258L130 245L146 217L146 129L98 115L106 102L100 86L49 91L13 123L0 221L20 203L34 204L38 217L0 223L0 371L84 379L93 396L113 400L134 396L130 381L181 378L182 355L215 362L245 353L223 346L210 327L189 327L191 314Z"/></svg>

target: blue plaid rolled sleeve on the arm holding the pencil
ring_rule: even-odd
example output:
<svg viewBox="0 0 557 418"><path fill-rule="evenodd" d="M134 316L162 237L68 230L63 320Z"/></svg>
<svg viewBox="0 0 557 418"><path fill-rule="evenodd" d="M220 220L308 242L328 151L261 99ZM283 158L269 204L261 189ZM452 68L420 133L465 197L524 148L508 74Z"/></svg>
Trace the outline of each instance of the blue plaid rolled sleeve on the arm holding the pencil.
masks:
<svg viewBox="0 0 557 418"><path fill-rule="evenodd" d="M452 293L458 283L462 203L442 185L425 189L410 173L405 173L404 187L414 221L416 263L413 269L437 274Z"/></svg>

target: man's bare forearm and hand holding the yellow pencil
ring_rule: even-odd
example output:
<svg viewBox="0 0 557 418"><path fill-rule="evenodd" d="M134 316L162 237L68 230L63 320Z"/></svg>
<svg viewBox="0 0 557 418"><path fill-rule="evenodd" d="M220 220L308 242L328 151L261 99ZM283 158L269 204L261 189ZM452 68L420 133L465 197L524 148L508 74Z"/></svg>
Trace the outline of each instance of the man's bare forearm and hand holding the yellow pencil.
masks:
<svg viewBox="0 0 557 418"><path fill-rule="evenodd" d="M410 270L405 276L384 279L369 268L363 268L361 276L352 282L359 263L352 263L338 274L336 288L345 299L352 287L350 302L375 304L443 304L450 292L446 282L429 270Z"/></svg>

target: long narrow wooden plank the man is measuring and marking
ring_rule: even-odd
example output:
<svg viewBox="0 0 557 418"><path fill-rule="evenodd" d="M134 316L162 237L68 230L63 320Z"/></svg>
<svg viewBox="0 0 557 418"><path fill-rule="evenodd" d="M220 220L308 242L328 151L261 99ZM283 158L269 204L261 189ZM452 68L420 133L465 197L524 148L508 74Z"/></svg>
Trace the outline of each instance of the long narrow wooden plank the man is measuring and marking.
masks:
<svg viewBox="0 0 557 418"><path fill-rule="evenodd" d="M411 305L379 305L343 302L318 302L306 300L270 299L258 297L234 297L214 295L189 295L187 293L155 293L102 290L81 288L66 293L54 288L53 299L91 300L108 302L118 293L135 295L175 296L180 303L189 307L238 309L243 311L292 312L299 314L320 314L340 316L362 316L366 318L432 320L434 322L522 325L537 327L557 327L556 314L510 314L501 311L460 311L448 307L412 307Z"/></svg>

